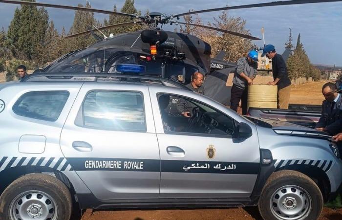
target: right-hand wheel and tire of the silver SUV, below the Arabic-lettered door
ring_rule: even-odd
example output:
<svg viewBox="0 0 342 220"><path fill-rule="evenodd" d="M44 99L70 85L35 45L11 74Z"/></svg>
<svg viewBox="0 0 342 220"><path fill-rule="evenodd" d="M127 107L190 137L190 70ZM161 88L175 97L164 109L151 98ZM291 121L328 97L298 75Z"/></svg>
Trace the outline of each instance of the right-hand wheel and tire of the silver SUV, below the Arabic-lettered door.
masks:
<svg viewBox="0 0 342 220"><path fill-rule="evenodd" d="M316 220L323 208L320 188L297 171L278 171L266 181L258 208L264 220Z"/></svg>

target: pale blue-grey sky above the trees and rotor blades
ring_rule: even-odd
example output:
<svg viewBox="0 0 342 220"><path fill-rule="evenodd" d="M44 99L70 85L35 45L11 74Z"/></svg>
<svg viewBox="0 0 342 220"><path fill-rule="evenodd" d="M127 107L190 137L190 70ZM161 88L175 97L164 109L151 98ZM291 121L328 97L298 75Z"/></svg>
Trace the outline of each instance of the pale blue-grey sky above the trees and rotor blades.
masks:
<svg viewBox="0 0 342 220"><path fill-rule="evenodd" d="M37 0L38 2L77 6L85 4L85 0ZM187 12L189 9L202 10L269 2L272 0L135 0L135 7L142 13L147 9L165 14ZM114 4L121 9L125 0L90 0L93 8L112 10ZM18 5L0 3L0 27L6 30L11 22L14 10ZM64 26L68 31L75 12L66 9L47 8L50 20L53 20L59 31ZM213 21L219 13L200 14L206 22ZM247 20L246 28L253 36L261 38L261 27L265 28L266 44L274 44L278 52L284 50L288 39L289 28L292 28L294 44L300 33L301 42L313 64L342 66L342 1L290 6L274 6L264 8L237 9L229 11L230 16L240 16ZM98 20L107 15L96 14ZM173 30L174 25L169 28ZM262 46L262 41L254 41Z"/></svg>

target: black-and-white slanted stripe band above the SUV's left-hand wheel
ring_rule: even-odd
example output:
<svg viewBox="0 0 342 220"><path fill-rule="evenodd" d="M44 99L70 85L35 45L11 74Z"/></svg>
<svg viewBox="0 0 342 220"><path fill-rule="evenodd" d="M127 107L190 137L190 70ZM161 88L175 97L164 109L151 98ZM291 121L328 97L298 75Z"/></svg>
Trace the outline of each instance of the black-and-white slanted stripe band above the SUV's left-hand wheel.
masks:
<svg viewBox="0 0 342 220"><path fill-rule="evenodd" d="M1 157L0 157L1 158ZM72 171L72 167L64 157L8 157L0 159L0 172L21 166L38 166L52 168L59 171Z"/></svg>

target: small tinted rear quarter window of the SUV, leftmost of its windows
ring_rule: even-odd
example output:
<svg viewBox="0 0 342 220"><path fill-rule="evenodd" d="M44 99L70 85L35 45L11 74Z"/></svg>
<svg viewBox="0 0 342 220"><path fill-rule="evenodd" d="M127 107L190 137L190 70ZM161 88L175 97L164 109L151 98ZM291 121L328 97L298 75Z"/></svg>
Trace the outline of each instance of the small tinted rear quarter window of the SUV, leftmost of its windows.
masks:
<svg viewBox="0 0 342 220"><path fill-rule="evenodd" d="M68 91L27 92L17 100L12 110L24 117L56 121L68 97Z"/></svg>

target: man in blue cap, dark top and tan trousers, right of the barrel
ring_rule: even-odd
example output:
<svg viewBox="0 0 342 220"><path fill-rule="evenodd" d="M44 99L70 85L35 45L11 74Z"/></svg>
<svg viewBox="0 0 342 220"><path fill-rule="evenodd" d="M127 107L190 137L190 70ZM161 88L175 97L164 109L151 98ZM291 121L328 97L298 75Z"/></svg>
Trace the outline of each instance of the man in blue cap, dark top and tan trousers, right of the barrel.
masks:
<svg viewBox="0 0 342 220"><path fill-rule="evenodd" d="M278 109L288 109L290 101L291 80L287 74L286 63L280 54L277 54L274 45L267 44L264 47L262 57L272 59L273 81L268 85L278 85Z"/></svg>

